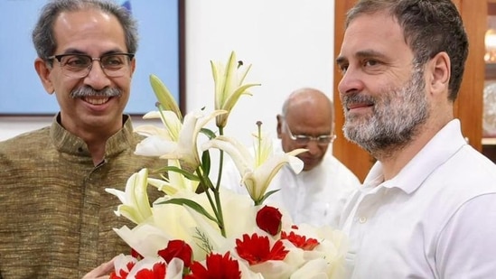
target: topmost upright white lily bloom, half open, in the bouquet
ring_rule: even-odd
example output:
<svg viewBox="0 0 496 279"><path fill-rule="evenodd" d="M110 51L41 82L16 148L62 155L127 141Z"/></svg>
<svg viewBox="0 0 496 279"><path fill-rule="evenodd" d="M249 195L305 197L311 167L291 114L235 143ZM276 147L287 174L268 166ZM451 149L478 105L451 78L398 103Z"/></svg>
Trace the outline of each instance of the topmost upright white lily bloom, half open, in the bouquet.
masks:
<svg viewBox="0 0 496 279"><path fill-rule="evenodd" d="M248 88L259 86L258 83L243 84L248 75L251 64L244 66L236 60L236 53L232 51L226 65L211 61L211 71L215 83L215 109L228 111L227 114L217 116L216 126L225 127L229 113L238 102L241 95L249 95Z"/></svg>

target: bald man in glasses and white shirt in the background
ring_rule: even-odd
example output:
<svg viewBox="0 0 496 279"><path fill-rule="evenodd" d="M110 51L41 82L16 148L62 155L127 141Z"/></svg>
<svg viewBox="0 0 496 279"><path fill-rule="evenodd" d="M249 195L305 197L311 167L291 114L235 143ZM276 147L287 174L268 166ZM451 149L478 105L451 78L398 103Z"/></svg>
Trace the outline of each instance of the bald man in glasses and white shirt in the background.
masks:
<svg viewBox="0 0 496 279"><path fill-rule="evenodd" d="M267 191L280 190L267 202L283 207L295 224L337 228L342 207L360 181L329 150L335 138L332 101L314 88L295 90L277 115L276 130L280 139L274 143L276 152L308 151L298 155L304 162L303 172L296 174L289 166L277 172ZM222 176L226 186L246 192L244 187L232 186L239 185L240 178L238 171L230 170L228 166Z"/></svg>

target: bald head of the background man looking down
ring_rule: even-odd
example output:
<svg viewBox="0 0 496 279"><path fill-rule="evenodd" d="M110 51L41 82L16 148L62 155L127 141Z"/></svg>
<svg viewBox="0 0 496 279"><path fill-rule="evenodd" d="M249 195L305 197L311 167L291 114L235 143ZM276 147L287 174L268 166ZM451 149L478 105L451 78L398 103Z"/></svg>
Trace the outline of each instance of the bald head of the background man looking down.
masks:
<svg viewBox="0 0 496 279"><path fill-rule="evenodd" d="M290 133L317 137L331 135L332 132L332 101L322 91L314 88L300 88L292 92L285 100L282 114L277 116L277 135L281 139L283 150L309 150L298 155L304 161L304 171L312 170L322 162L329 145L318 144L314 140L308 144L298 144Z"/></svg>

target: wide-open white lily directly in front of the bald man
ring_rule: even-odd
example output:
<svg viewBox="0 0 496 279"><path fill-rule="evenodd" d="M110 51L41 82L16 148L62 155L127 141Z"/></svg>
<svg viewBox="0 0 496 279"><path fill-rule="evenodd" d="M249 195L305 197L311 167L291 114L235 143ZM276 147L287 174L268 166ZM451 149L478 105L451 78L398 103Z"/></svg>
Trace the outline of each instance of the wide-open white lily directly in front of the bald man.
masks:
<svg viewBox="0 0 496 279"><path fill-rule="evenodd" d="M201 146L203 150L217 148L229 153L241 174L241 181L256 205L267 198L265 195L270 181L286 163L289 163L296 173L303 170L304 163L295 156L306 151L295 149L289 153L274 153L272 141L267 137L258 137L257 142L255 156L244 144L224 135Z"/></svg>

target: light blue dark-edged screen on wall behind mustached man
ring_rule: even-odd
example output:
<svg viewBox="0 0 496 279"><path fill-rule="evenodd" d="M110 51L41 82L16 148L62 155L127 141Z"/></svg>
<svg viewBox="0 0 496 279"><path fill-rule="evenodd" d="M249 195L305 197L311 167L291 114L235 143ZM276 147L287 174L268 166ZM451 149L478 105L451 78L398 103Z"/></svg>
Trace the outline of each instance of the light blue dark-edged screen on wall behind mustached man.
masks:
<svg viewBox="0 0 496 279"><path fill-rule="evenodd" d="M154 110L156 98L149 76L158 76L182 104L183 23L182 0L118 1L136 18L139 46L136 71L126 114L143 115ZM0 115L44 116L59 111L55 95L49 95L34 70L31 33L47 0L0 1Z"/></svg>

